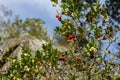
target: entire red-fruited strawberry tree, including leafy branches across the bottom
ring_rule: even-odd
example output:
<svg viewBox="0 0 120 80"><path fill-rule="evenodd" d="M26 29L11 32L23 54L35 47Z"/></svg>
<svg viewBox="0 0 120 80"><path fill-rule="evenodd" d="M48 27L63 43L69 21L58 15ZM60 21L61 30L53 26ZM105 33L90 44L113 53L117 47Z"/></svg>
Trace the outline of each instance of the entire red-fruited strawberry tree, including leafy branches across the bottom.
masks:
<svg viewBox="0 0 120 80"><path fill-rule="evenodd" d="M60 27L55 31L65 37L71 48L58 51L52 44L31 55L22 46L21 60L11 59L13 65L1 80L119 80L119 25L114 25L108 9L99 0L51 0L60 6L55 15ZM6 58L5 58L6 60ZM2 77L2 78L1 78Z"/></svg>

